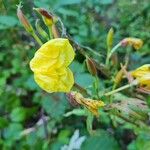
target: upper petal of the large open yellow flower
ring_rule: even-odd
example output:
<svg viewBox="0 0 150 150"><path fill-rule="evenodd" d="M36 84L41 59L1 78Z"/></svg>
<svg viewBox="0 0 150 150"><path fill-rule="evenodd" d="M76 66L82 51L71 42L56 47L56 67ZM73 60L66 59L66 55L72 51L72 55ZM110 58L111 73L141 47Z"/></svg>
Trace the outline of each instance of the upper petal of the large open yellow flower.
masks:
<svg viewBox="0 0 150 150"><path fill-rule="evenodd" d="M30 62L33 72L43 72L51 68L67 67L75 53L68 39L52 39L41 46Z"/></svg>

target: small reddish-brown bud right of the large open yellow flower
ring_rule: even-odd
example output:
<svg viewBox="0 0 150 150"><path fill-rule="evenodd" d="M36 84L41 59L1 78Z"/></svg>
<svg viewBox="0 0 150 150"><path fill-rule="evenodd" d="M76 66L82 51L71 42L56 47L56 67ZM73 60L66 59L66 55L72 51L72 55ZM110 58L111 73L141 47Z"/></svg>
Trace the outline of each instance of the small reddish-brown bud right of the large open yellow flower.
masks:
<svg viewBox="0 0 150 150"><path fill-rule="evenodd" d="M94 61L91 58L86 57L86 65L90 74L96 76L97 70Z"/></svg>

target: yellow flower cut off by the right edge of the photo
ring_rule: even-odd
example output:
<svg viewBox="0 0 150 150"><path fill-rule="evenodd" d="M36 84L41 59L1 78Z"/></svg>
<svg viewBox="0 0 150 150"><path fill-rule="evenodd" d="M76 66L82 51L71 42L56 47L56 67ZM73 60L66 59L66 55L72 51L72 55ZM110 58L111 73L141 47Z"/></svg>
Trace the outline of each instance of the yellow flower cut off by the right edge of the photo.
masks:
<svg viewBox="0 0 150 150"><path fill-rule="evenodd" d="M131 72L131 75L136 78L141 85L150 87L150 64L145 64L137 68Z"/></svg>

